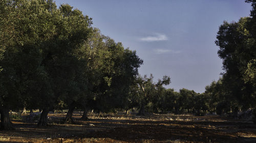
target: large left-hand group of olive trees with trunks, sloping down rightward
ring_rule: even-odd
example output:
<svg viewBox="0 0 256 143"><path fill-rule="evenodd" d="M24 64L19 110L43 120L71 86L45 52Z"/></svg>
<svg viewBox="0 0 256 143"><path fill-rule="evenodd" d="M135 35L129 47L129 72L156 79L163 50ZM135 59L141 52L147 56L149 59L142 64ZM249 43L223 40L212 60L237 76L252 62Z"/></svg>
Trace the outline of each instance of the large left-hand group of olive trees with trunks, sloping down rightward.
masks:
<svg viewBox="0 0 256 143"><path fill-rule="evenodd" d="M101 35L69 5L7 0L0 10L1 129L13 129L9 110L23 107L41 109L38 125L46 126L60 103L68 123L88 101L100 111L121 106L142 64L135 51Z"/></svg>

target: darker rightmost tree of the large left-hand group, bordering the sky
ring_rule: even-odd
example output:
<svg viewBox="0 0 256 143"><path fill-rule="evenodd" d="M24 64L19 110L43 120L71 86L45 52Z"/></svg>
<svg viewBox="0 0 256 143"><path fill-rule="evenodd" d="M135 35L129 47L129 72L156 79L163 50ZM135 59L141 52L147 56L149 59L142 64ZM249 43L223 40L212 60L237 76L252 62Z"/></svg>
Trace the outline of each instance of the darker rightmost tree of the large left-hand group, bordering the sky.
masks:
<svg viewBox="0 0 256 143"><path fill-rule="evenodd" d="M115 43L113 39L105 39L106 47L110 52L108 62L102 72L102 82L95 86L95 108L101 112L114 108L124 108L130 87L134 84L138 74L138 68L142 60L136 55L136 51L124 49L122 43Z"/></svg>

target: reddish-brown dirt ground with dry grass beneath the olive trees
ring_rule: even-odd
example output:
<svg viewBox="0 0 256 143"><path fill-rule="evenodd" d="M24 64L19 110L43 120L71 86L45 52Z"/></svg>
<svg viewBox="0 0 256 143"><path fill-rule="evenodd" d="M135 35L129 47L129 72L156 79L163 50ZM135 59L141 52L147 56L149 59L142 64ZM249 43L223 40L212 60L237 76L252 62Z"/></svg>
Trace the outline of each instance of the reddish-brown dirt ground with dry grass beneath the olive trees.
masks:
<svg viewBox="0 0 256 143"><path fill-rule="evenodd" d="M256 125L219 116L189 115L89 115L75 124L63 124L64 114L53 115L50 126L13 120L16 130L0 131L1 142L256 142Z"/></svg>

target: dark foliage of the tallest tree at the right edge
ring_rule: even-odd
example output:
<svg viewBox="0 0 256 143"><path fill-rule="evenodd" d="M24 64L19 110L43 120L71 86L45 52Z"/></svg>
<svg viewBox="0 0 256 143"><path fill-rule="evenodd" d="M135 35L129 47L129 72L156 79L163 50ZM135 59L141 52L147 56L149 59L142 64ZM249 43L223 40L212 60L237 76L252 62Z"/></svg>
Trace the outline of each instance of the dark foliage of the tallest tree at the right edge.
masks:
<svg viewBox="0 0 256 143"><path fill-rule="evenodd" d="M252 3L252 17L243 17L238 22L224 23L217 35L218 54L223 59L223 87L232 104L244 109L255 107L255 2ZM254 22L253 22L254 21ZM229 99L229 100L230 100ZM231 105L232 106L232 105Z"/></svg>

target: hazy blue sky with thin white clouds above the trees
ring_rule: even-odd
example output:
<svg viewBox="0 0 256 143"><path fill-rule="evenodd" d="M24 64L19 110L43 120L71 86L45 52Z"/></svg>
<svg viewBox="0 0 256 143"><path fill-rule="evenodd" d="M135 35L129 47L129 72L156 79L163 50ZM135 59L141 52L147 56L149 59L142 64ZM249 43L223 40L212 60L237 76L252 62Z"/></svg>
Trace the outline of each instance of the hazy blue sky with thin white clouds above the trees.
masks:
<svg viewBox="0 0 256 143"><path fill-rule="evenodd" d="M215 45L224 20L249 16L243 0L56 0L93 18L93 26L143 59L139 73L155 81L168 75L167 88L202 93L222 71Z"/></svg>

